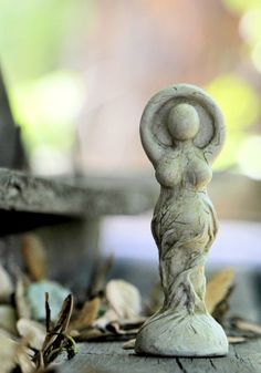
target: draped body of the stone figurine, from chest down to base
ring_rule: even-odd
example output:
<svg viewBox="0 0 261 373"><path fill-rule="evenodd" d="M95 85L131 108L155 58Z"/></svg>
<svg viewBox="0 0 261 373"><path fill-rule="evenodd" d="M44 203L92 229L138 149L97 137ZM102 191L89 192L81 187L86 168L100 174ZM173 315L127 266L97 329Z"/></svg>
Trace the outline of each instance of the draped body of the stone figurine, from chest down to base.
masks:
<svg viewBox="0 0 261 373"><path fill-rule="evenodd" d="M186 146L168 152L156 169L161 191L152 231L159 250L164 307L194 313L206 311L203 266L217 234L217 218L206 191L211 168L200 151L187 148L188 153Z"/></svg>

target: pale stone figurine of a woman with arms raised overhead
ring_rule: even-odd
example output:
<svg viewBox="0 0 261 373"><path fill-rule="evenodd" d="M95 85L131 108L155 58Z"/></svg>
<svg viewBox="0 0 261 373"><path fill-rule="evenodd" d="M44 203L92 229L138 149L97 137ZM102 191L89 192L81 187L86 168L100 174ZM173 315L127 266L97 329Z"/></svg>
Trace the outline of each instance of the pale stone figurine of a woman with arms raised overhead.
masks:
<svg viewBox="0 0 261 373"><path fill-rule="evenodd" d="M202 90L173 85L148 102L140 136L160 184L152 231L165 301L140 328L135 351L226 355L227 336L205 304L205 262L217 235L217 216L206 188L225 139L221 112Z"/></svg>

